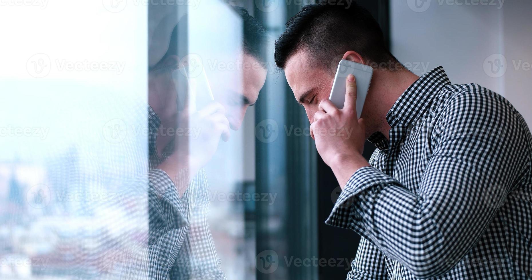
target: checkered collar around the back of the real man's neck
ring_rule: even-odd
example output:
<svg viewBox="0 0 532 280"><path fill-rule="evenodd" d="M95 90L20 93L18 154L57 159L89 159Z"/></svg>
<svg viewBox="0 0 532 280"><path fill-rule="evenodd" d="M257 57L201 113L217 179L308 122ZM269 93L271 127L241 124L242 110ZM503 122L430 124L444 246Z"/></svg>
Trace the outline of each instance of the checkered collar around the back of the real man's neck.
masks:
<svg viewBox="0 0 532 280"><path fill-rule="evenodd" d="M388 124L394 128L398 124L411 126L427 111L440 89L451 83L442 66L422 75L406 89L386 114Z"/></svg>

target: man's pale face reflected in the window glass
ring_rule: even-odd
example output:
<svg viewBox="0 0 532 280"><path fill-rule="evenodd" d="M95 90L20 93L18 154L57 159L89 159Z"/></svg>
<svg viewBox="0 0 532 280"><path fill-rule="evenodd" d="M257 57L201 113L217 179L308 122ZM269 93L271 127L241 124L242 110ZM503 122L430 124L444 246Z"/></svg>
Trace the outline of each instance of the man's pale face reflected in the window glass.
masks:
<svg viewBox="0 0 532 280"><path fill-rule="evenodd" d="M267 70L251 55L242 58L242 84L223 90L222 96L214 95L214 99L226 109L226 117L232 130L238 130L248 107L253 106L264 86Z"/></svg>

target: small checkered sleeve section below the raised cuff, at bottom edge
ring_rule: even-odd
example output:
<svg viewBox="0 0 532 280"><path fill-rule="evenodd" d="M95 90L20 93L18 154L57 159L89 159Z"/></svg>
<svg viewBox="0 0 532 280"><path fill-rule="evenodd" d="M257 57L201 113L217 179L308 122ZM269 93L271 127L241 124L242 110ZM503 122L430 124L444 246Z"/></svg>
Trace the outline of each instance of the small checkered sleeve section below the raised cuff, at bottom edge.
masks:
<svg viewBox="0 0 532 280"><path fill-rule="evenodd" d="M347 280L355 279L388 279L383 253L364 237L360 239L356 257L351 262L351 271L347 274Z"/></svg>

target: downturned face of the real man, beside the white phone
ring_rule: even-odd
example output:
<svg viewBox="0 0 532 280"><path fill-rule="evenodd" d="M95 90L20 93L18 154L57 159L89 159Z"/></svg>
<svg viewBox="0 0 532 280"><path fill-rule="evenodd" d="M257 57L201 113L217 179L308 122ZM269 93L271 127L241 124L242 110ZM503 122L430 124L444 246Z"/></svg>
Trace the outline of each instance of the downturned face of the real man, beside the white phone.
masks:
<svg viewBox="0 0 532 280"><path fill-rule="evenodd" d="M285 75L294 97L303 105L309 122L323 99L328 99L334 75L327 70L310 65L304 50L296 52L286 63Z"/></svg>

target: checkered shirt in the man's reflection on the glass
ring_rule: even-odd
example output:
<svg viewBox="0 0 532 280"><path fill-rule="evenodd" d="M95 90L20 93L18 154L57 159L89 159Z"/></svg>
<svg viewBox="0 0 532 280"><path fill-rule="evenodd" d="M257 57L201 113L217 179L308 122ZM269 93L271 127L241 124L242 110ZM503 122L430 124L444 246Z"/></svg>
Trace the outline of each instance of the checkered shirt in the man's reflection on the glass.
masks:
<svg viewBox="0 0 532 280"><path fill-rule="evenodd" d="M155 141L161 124L149 113L149 279L226 279L207 223L209 186L204 169L192 178L187 169L176 183L186 187L182 197L170 177L156 166L167 159L172 143L157 155ZM182 187L180 187L182 188Z"/></svg>

